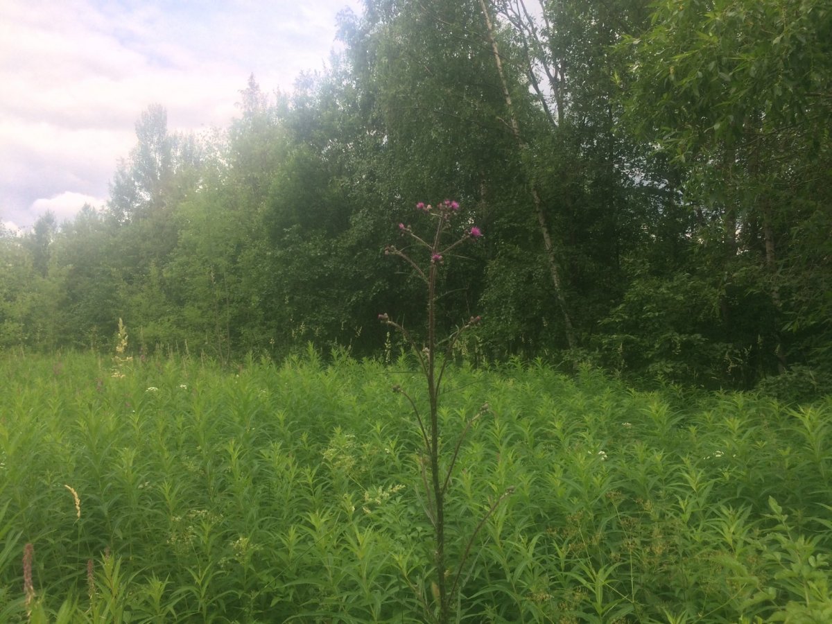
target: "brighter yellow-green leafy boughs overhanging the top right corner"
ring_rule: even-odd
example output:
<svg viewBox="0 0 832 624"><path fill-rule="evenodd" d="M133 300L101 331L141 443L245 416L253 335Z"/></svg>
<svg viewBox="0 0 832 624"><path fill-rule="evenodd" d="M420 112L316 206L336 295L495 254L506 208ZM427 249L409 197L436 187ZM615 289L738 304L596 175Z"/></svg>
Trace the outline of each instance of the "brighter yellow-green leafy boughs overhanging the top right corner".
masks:
<svg viewBox="0 0 832 624"><path fill-rule="evenodd" d="M662 127L682 157L742 141L758 115L777 131L814 125L829 104L830 28L825 2L658 2L651 28L628 44L633 96L641 111L655 105L641 119Z"/></svg>

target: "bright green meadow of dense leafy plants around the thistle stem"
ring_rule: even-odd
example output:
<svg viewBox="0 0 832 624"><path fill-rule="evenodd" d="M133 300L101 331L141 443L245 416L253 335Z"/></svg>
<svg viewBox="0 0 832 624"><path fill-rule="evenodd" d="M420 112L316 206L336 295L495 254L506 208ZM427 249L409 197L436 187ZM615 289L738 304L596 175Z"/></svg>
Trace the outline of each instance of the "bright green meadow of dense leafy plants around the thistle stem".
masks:
<svg viewBox="0 0 832 624"><path fill-rule="evenodd" d="M425 622L408 364L2 356L0 622ZM448 494L459 622L832 622L832 399L518 364L441 400L446 458L490 405Z"/></svg>

